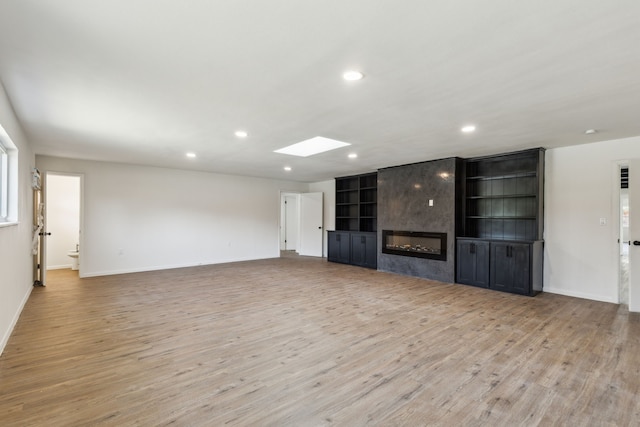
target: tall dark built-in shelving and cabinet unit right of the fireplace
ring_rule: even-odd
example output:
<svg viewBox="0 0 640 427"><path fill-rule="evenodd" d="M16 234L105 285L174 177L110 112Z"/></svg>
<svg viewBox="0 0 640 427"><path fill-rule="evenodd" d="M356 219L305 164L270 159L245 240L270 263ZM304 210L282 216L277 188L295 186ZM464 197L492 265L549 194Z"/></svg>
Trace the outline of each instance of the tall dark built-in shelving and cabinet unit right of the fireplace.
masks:
<svg viewBox="0 0 640 427"><path fill-rule="evenodd" d="M542 290L544 150L468 159L464 173L456 281L534 295Z"/></svg>

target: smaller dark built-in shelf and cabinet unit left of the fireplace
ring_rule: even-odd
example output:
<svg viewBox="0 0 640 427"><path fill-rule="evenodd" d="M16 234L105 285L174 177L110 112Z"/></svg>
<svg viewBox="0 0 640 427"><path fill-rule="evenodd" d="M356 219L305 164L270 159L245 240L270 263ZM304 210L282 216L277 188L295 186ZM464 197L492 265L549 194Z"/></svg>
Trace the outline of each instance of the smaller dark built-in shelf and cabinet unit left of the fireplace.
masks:
<svg viewBox="0 0 640 427"><path fill-rule="evenodd" d="M377 217L377 173L336 178L336 230L328 232L328 260L376 268Z"/></svg>

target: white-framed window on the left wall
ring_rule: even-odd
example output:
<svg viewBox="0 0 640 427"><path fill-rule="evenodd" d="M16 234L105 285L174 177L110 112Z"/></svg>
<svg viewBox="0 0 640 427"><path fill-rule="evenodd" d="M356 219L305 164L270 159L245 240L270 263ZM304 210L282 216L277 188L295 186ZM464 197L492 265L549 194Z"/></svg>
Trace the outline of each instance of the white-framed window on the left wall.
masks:
<svg viewBox="0 0 640 427"><path fill-rule="evenodd" d="M0 126L0 226L18 221L18 150Z"/></svg>

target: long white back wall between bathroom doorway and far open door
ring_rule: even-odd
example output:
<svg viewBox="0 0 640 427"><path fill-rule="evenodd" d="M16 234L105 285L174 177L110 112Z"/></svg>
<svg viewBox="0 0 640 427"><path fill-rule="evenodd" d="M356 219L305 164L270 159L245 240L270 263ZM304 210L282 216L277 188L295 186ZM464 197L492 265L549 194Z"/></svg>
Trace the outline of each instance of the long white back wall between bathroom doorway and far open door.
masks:
<svg viewBox="0 0 640 427"><path fill-rule="evenodd" d="M290 181L41 157L84 174L82 275L278 257L280 191Z"/></svg>

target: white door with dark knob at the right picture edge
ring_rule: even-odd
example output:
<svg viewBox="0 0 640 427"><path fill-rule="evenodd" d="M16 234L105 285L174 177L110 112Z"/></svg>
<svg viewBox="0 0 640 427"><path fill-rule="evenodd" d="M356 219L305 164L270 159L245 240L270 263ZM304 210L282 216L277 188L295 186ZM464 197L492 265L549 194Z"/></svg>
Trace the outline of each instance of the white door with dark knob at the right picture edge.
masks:
<svg viewBox="0 0 640 427"><path fill-rule="evenodd" d="M640 312L640 159L629 161L629 311Z"/></svg>

